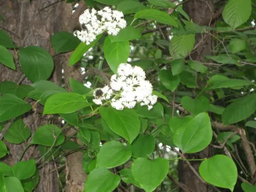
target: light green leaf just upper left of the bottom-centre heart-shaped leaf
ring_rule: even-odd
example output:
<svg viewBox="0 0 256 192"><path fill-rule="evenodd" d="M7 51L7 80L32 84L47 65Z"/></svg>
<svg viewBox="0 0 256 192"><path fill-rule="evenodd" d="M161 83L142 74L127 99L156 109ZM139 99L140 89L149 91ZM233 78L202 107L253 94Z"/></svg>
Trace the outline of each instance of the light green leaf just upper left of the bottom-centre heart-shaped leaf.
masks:
<svg viewBox="0 0 256 192"><path fill-rule="evenodd" d="M99 150L96 167L113 168L120 166L131 158L131 150L119 141L108 141Z"/></svg>

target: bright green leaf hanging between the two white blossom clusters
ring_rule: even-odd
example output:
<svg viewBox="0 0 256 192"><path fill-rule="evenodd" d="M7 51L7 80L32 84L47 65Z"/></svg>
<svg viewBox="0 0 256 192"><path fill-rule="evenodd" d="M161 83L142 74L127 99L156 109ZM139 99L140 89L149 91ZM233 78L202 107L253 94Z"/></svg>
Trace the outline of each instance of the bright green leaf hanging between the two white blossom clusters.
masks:
<svg viewBox="0 0 256 192"><path fill-rule="evenodd" d="M111 70L116 73L121 63L126 63L130 55L129 41L111 42L108 36L104 41L104 55Z"/></svg>

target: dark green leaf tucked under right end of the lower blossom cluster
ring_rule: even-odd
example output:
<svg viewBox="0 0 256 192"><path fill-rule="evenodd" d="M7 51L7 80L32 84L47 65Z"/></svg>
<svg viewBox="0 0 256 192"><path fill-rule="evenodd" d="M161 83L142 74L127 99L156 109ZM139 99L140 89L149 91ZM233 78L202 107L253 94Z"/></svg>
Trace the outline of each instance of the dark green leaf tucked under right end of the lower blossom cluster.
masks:
<svg viewBox="0 0 256 192"><path fill-rule="evenodd" d="M134 111L138 114L138 116L144 118L163 118L163 105L159 102L155 104L151 110L148 110L147 106L140 106L137 104Z"/></svg>

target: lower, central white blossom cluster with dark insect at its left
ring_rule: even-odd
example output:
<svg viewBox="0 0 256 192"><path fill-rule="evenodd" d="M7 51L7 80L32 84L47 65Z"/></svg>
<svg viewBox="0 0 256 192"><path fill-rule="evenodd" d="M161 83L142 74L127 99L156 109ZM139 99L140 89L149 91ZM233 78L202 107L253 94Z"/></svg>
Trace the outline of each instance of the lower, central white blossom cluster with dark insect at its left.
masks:
<svg viewBox="0 0 256 192"><path fill-rule="evenodd" d="M152 85L145 78L141 67L122 63L117 69L117 75L111 77L110 87L106 85L93 93L93 102L102 105L103 100L109 100L117 110L134 108L136 103L140 103L141 106L147 105L150 110L157 102L157 96L152 95Z"/></svg>

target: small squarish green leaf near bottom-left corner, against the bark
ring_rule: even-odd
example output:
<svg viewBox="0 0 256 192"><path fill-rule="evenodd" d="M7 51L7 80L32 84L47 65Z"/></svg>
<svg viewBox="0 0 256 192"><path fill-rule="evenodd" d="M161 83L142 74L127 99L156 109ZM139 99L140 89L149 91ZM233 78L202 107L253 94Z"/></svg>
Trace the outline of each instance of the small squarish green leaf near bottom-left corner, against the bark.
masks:
<svg viewBox="0 0 256 192"><path fill-rule="evenodd" d="M19 180L27 179L35 174L35 160L20 161L14 164L12 168L13 175Z"/></svg>

